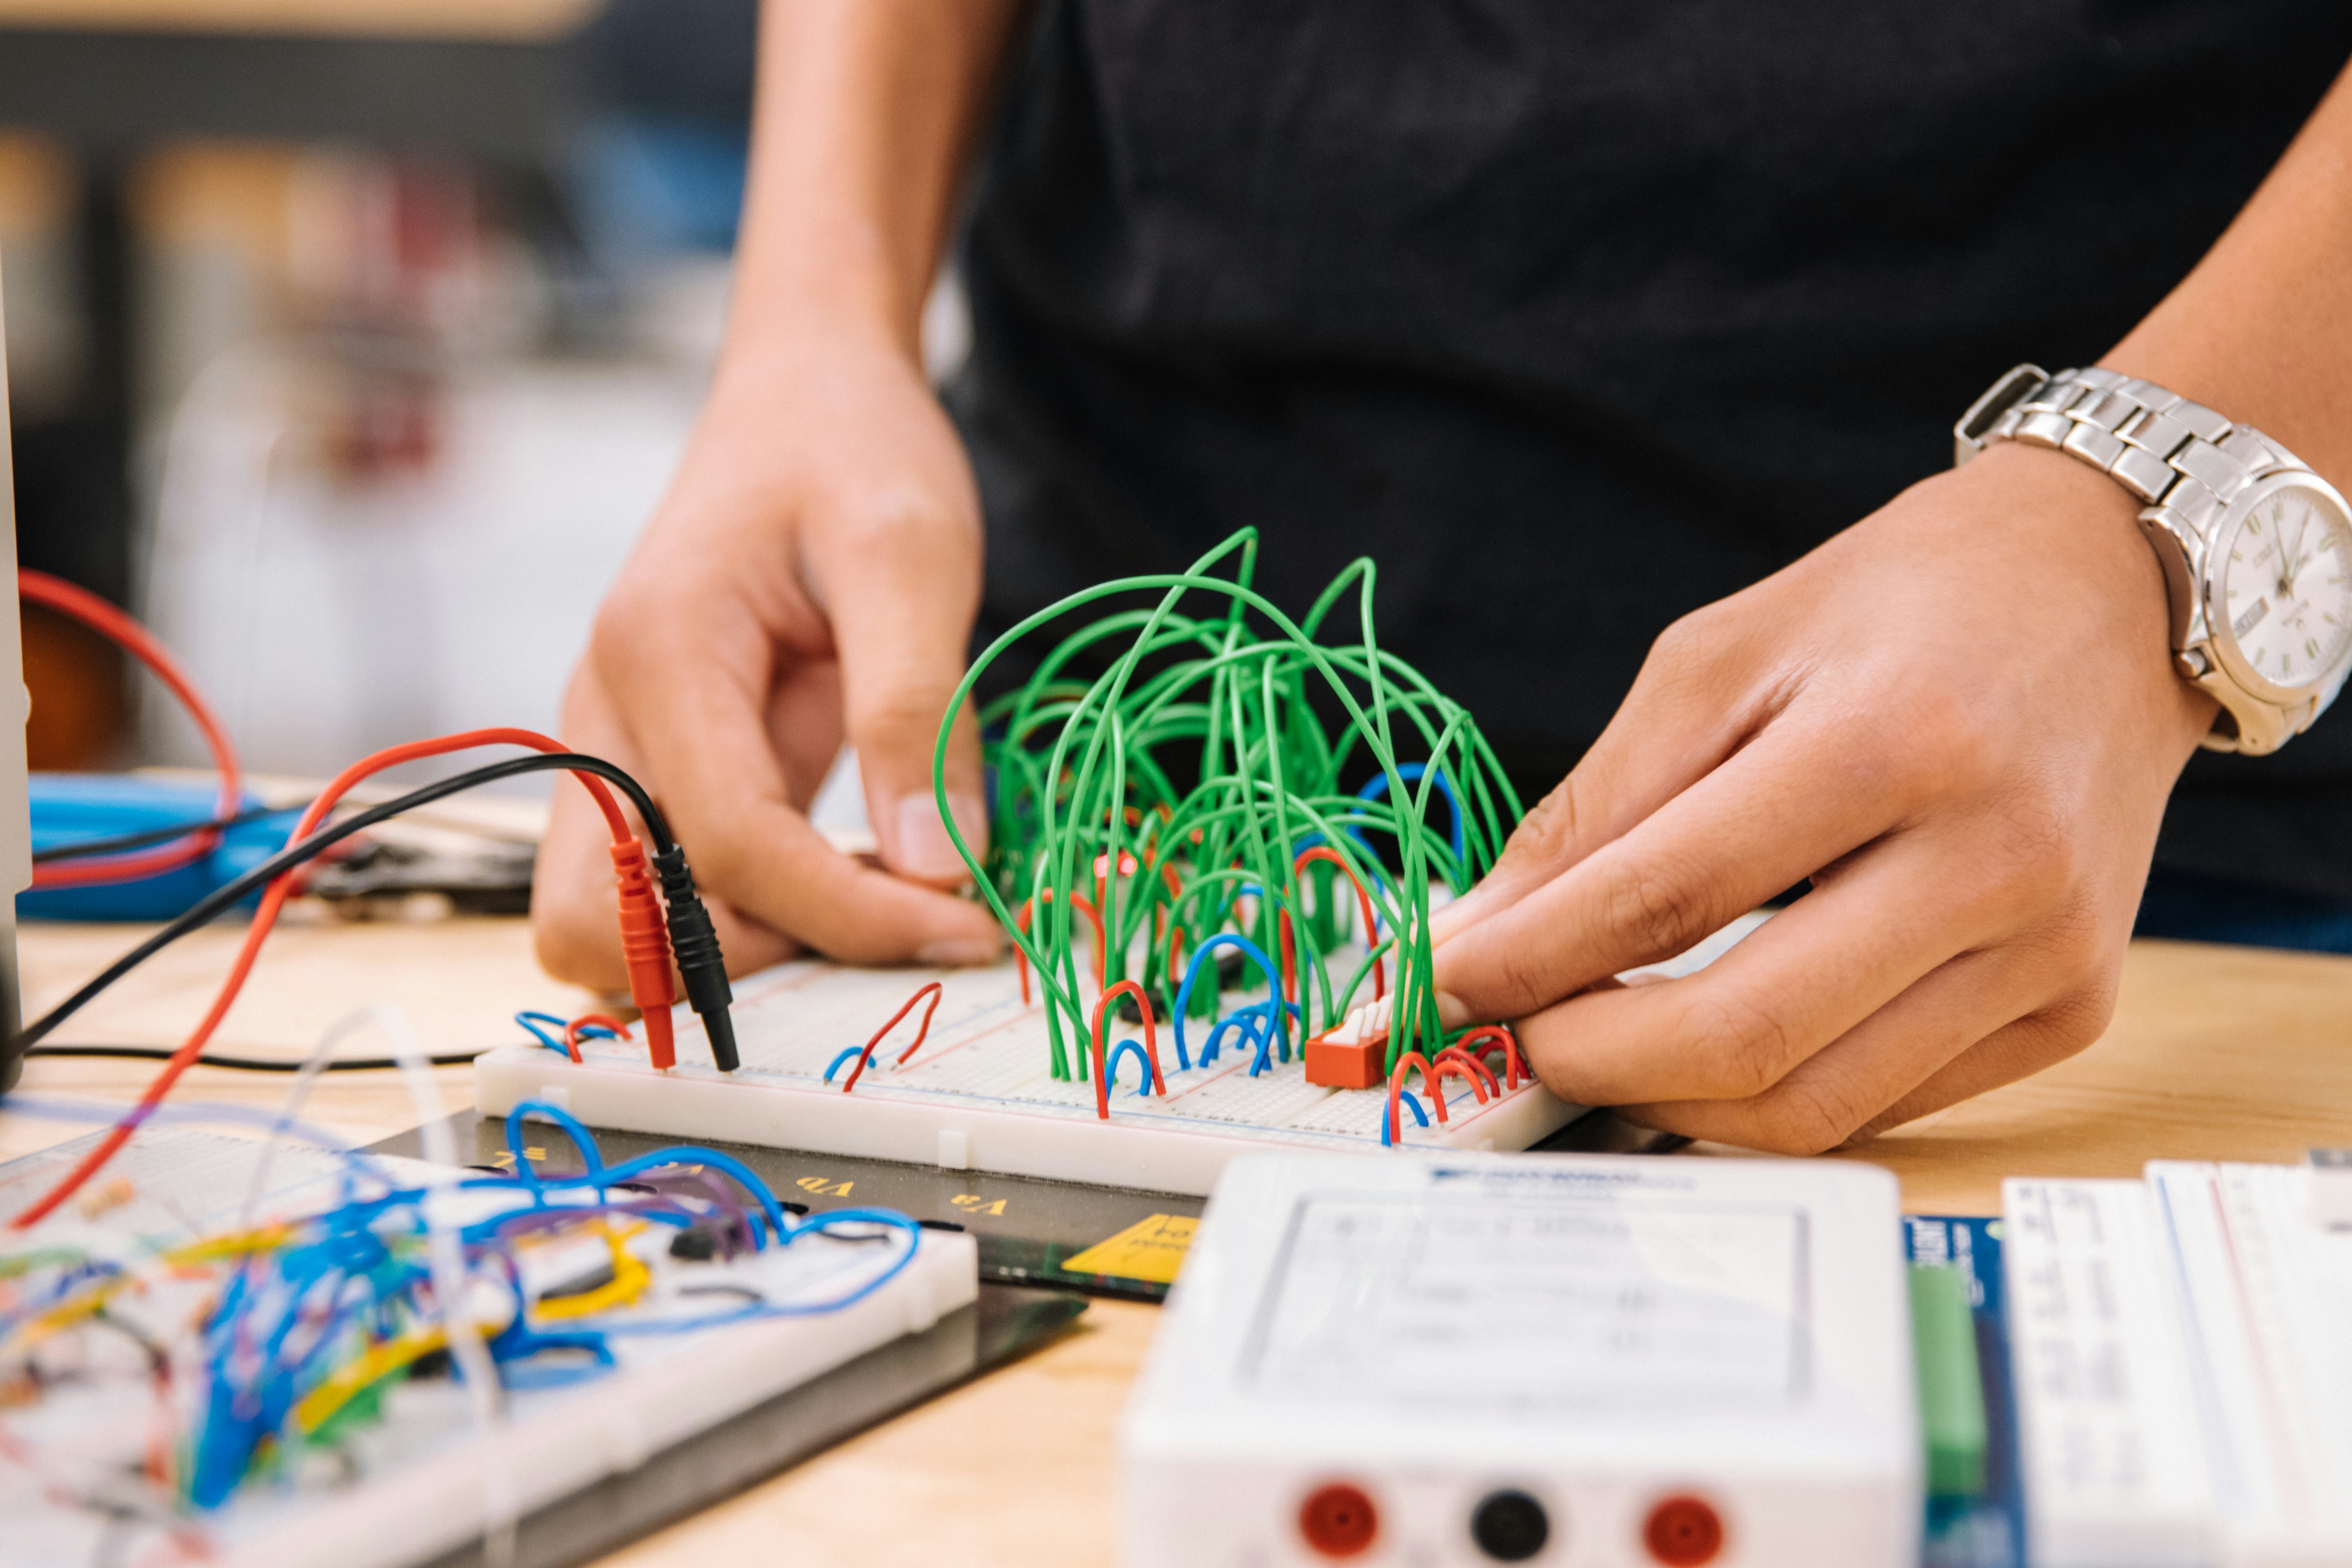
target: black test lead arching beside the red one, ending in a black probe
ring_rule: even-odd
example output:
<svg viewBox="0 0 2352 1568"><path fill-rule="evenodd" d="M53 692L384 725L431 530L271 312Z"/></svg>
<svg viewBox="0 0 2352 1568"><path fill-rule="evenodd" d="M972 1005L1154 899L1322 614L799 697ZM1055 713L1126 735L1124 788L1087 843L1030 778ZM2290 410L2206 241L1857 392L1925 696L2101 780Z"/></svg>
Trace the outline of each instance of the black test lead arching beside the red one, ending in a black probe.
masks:
<svg viewBox="0 0 2352 1568"><path fill-rule="evenodd" d="M687 851L680 849L677 839L670 837L670 825L654 806L654 799L644 792L635 778L604 762L602 757L586 757L581 752L536 752L529 757L508 757L506 762L492 762L452 778L428 783L419 790L409 790L397 799L388 799L381 806L369 806L339 823L325 825L299 844L287 844L282 851L245 872L235 882L216 886L212 893L200 898L186 914L155 931L151 938L125 952L120 959L99 971L78 992L59 1001L54 1009L28 1023L9 1041L5 1058L19 1058L35 1044L40 1044L56 1025L66 1023L73 1013L82 1011L92 997L103 992L108 985L127 976L129 971L146 964L151 957L188 936L198 926L209 924L216 914L254 893L278 877L287 875L296 865L315 860L329 846L341 844L355 832L374 827L381 820L395 818L402 811L414 811L416 806L428 806L449 795L461 795L485 783L496 783L501 778L515 778L522 773L595 773L607 783L616 785L628 795L630 804L637 806L637 816L644 820L644 837L654 842L654 872L661 879L661 896L670 926L670 952L677 957L677 971L687 983L687 1006L694 1009L696 1018L703 1020L703 1034L710 1039L710 1060L717 1063L720 1072L734 1072L741 1065L736 1056L734 1018L727 1013L734 1001L734 990L727 985L727 961L720 954L717 931L710 926L710 910L703 907L701 893L694 889L694 872L687 870Z"/></svg>

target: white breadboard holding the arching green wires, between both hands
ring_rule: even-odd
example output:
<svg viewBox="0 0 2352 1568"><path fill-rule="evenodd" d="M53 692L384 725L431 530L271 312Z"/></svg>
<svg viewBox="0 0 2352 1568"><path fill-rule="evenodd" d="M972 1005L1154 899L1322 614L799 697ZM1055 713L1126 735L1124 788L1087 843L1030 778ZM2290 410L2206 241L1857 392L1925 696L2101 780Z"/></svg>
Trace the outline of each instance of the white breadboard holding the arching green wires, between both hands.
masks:
<svg viewBox="0 0 2352 1568"><path fill-rule="evenodd" d="M1748 936L1748 914L1658 973L1689 973ZM1334 964L1334 969L1343 969ZM922 985L938 980L941 1006L922 1048L920 1009L884 1039L854 1091L826 1067L863 1046ZM1261 1001L1228 997L1221 1016ZM1207 1194L1235 1154L1381 1152L1385 1088L1319 1088L1305 1081L1298 1041L1291 1060L1251 1077L1251 1053L1232 1032L1221 1056L1202 1065L1207 1023L1188 1020L1190 1070L1178 1067L1176 1032L1157 1030L1167 1095L1145 1095L1136 1056L1117 1070L1110 1117L1096 1112L1094 1084L1049 1072L1044 1006L1021 1001L1011 964L995 969L844 969L783 964L736 985L734 1027L741 1067L722 1074L694 1013L680 1006L677 1067L656 1072L642 1044L581 1041L581 1063L541 1046L508 1046L475 1058L475 1105L503 1117L522 1100L548 1100L588 1126L755 1143L823 1154L856 1154L955 1171L1002 1171L1103 1187ZM1105 1053L1143 1027L1112 1023ZM1065 1044L1068 1048L1068 1044ZM1091 1072L1091 1067L1089 1067ZM1541 1084L1522 1081L1477 1100L1463 1079L1442 1079L1446 1117L1430 1124L1406 1112L1399 1145L1409 1152L1524 1150L1578 1114ZM1416 1079L1418 1088L1418 1079Z"/></svg>

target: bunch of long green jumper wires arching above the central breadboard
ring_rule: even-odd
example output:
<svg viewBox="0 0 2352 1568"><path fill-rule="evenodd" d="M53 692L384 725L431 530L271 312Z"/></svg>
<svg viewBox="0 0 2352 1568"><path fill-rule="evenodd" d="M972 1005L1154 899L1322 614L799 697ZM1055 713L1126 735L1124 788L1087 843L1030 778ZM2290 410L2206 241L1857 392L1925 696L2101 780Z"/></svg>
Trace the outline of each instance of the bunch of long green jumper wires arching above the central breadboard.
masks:
<svg viewBox="0 0 2352 1568"><path fill-rule="evenodd" d="M1096 957L1103 985L1136 978L1164 1001L1188 954L1225 931L1279 964L1279 922L1289 914L1301 1039L1338 1023L1388 954L1397 973L1390 1070L1406 1051L1435 1056L1444 1044L1430 983L1430 882L1458 896L1486 875L1522 816L1519 799L1470 712L1381 651L1369 559L1350 562L1305 621L1291 621L1251 590L1256 550L1256 529L1242 529L1188 571L1117 578L1037 611L988 644L938 726L931 785L941 820L1037 971L1056 1079L1073 1077L1065 1039L1075 1044L1075 1077L1087 1077L1091 1016L1080 999L1075 938L1091 936L1091 924L1073 914L1075 900L1091 905L1096 896L1108 947ZM1221 562L1230 576L1214 571ZM1359 635L1324 639L1350 588ZM1157 602L1134 602L1152 592ZM1105 599L1129 607L1063 637L1028 684L981 712L983 762L997 776L983 863L948 809L955 717L1009 646ZM1096 661L1117 656L1091 682L1068 675L1089 651ZM1345 712L1336 733L1317 715L1315 691ZM1197 748L1197 780L1171 773L1162 759L1171 748ZM1378 769L1369 799L1341 788L1350 764L1362 769L1359 750ZM1414 764L1418 778L1406 780ZM1451 806L1437 802L1454 816L1451 832L1430 825L1432 788L1451 790ZM1327 860L1298 875L1296 858L1310 844L1345 863L1381 926L1362 933L1371 954L1338 990L1324 954L1348 938L1355 891L1338 886L1338 867ZM1395 875L1376 846L1395 858ZM1122 882L1124 867L1131 875ZM1141 973L1129 976L1138 957ZM1279 987L1279 976L1268 976L1277 999ZM1214 1016L1216 990L1195 987L1192 1011Z"/></svg>

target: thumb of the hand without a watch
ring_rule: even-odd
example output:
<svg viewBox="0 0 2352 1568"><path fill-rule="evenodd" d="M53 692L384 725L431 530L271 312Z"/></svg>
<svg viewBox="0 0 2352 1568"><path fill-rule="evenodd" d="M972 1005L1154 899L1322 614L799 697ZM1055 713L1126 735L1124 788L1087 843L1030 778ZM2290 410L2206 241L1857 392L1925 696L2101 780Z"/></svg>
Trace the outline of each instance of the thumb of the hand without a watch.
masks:
<svg viewBox="0 0 2352 1568"><path fill-rule="evenodd" d="M828 552L830 555L830 552ZM858 752L882 863L913 882L971 877L931 788L941 722L964 679L981 597L978 529L908 524L826 562L826 609L842 668L842 719ZM971 858L988 853L981 726L971 703L948 731L943 785Z"/></svg>

